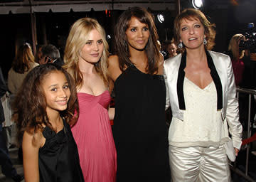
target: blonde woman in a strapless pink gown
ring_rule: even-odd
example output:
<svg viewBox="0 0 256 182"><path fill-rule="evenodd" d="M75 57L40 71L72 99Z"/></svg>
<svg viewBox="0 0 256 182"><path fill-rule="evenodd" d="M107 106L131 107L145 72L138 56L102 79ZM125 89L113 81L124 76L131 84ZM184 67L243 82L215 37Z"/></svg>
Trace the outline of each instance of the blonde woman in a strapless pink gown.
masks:
<svg viewBox="0 0 256 182"><path fill-rule="evenodd" d="M72 132L87 182L112 182L116 176L107 56L108 44L100 24L92 18L76 21L65 46L64 68L73 76L78 90L80 115Z"/></svg>

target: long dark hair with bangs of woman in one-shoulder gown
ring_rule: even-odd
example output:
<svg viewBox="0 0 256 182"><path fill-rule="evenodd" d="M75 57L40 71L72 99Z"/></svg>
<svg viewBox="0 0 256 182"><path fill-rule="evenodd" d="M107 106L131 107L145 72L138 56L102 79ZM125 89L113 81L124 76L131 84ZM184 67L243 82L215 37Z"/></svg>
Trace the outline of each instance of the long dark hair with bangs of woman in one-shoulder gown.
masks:
<svg viewBox="0 0 256 182"><path fill-rule="evenodd" d="M156 26L154 24L153 16L139 7L132 7L127 11L124 11L115 26L114 40L115 40L115 53L119 58L119 68L124 71L127 66L131 65L130 54L127 43L127 36L125 31L129 28L129 21L132 17L137 18L141 23L145 23L149 26L149 41L146 44L146 55L148 58L148 63L146 66L146 72L153 75L157 73L159 67L160 53L159 53L159 44L157 43L158 34L156 31Z"/></svg>

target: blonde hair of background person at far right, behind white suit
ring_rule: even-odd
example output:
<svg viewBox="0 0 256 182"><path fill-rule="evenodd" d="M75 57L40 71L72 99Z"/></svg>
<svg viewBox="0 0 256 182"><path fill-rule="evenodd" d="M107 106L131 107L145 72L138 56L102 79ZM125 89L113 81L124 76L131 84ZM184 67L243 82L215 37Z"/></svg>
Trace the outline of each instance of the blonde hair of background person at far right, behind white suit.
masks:
<svg viewBox="0 0 256 182"><path fill-rule="evenodd" d="M238 58L242 59L245 55L245 50L239 49L239 43L241 40L245 41L245 36L243 36L240 33L235 34L230 39L230 44L228 45L228 50L230 50L232 52L233 58L235 58L235 59L238 59Z"/></svg>

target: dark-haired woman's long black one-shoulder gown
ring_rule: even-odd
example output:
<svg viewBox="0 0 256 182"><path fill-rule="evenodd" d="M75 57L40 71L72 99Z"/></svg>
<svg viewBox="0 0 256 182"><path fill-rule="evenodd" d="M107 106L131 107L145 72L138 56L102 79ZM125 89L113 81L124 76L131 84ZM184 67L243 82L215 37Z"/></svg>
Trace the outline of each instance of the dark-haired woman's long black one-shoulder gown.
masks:
<svg viewBox="0 0 256 182"><path fill-rule="evenodd" d="M114 82L117 181L171 181L162 75L129 66Z"/></svg>

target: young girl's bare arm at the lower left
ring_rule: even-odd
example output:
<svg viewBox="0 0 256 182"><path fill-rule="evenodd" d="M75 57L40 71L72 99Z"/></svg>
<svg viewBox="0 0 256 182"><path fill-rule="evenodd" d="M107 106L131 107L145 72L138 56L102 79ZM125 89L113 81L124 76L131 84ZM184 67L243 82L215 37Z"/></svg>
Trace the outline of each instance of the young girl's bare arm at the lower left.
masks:
<svg viewBox="0 0 256 182"><path fill-rule="evenodd" d="M23 170L26 182L39 182L38 152L42 139L41 133L23 134Z"/></svg>

